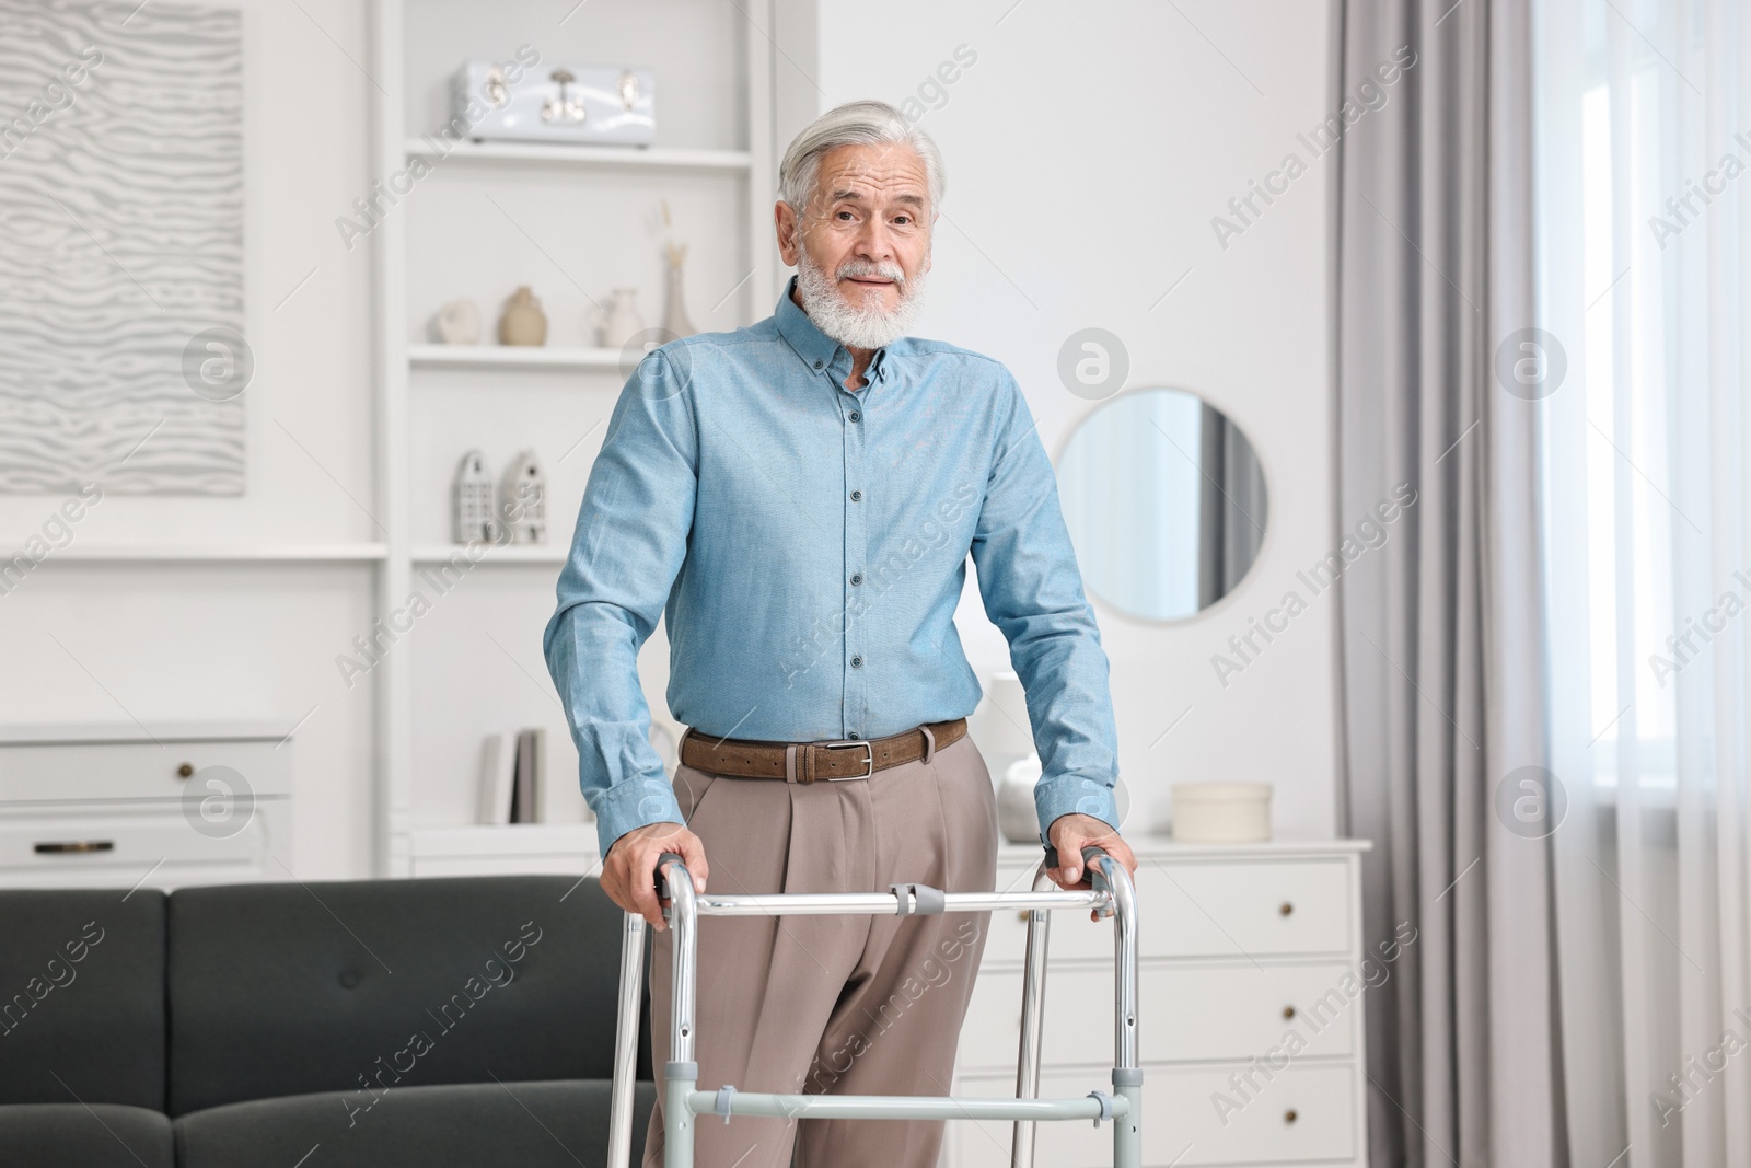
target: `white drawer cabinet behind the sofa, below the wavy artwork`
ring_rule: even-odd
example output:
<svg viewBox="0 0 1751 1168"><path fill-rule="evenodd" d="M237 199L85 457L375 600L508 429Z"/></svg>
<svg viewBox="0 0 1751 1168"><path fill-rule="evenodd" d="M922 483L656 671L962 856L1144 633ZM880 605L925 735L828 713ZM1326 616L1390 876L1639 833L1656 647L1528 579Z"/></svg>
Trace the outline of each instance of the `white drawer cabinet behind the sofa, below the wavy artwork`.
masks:
<svg viewBox="0 0 1751 1168"><path fill-rule="evenodd" d="M289 730L0 727L0 886L291 879Z"/></svg>

